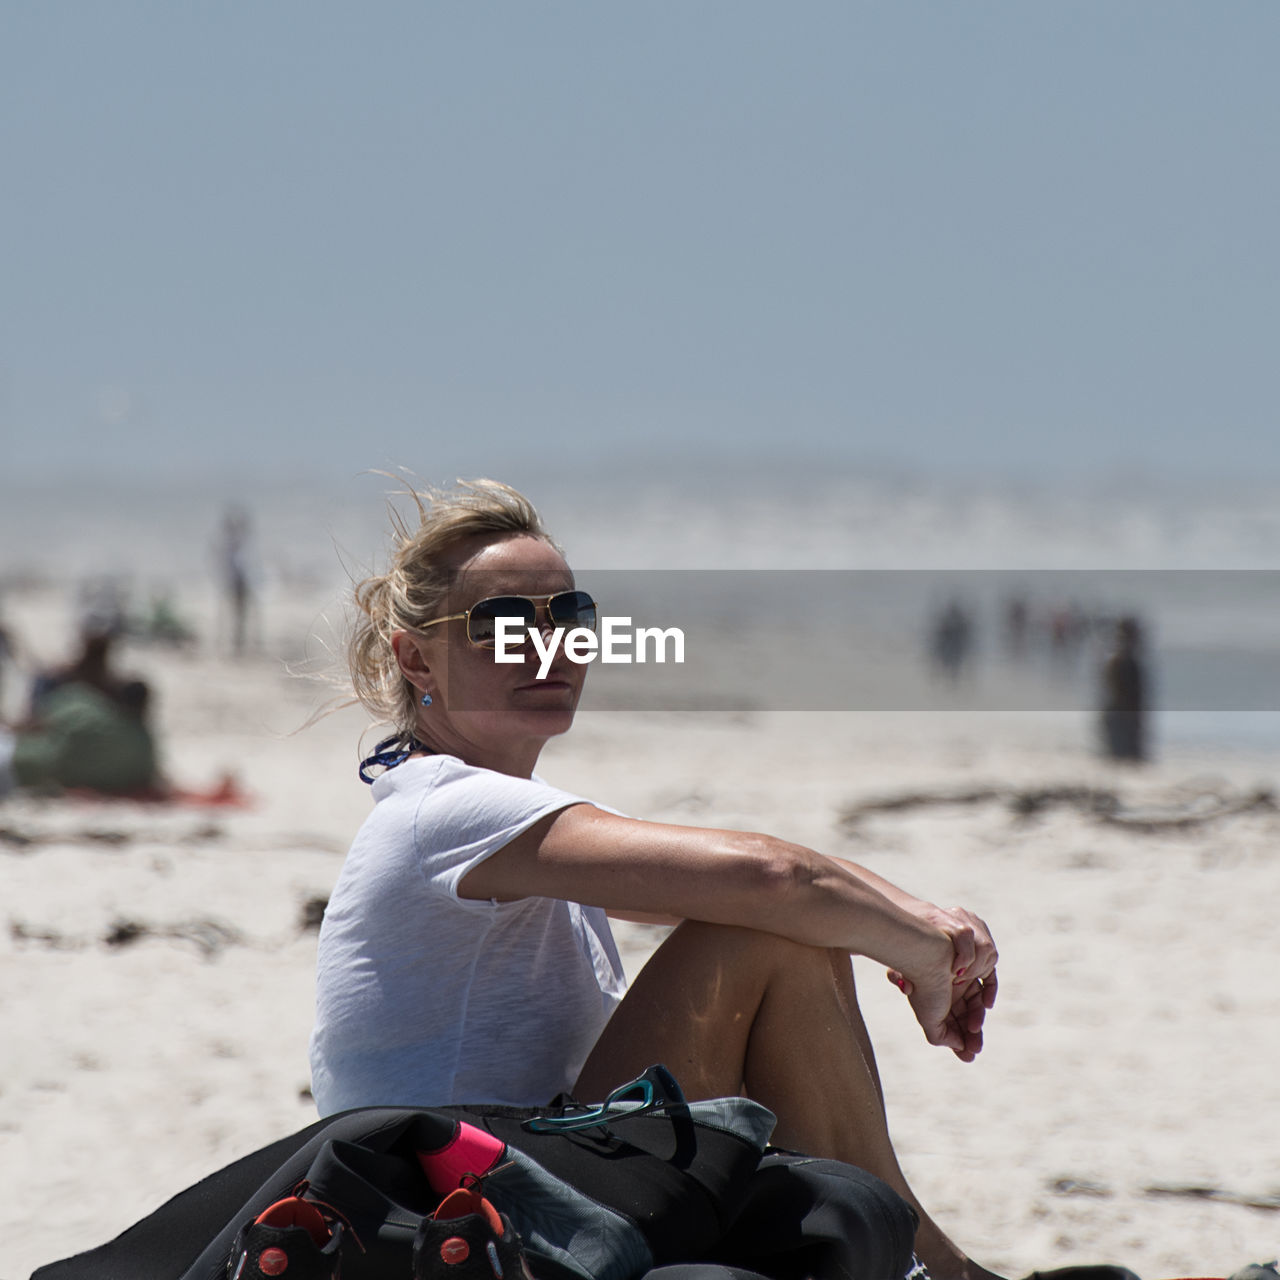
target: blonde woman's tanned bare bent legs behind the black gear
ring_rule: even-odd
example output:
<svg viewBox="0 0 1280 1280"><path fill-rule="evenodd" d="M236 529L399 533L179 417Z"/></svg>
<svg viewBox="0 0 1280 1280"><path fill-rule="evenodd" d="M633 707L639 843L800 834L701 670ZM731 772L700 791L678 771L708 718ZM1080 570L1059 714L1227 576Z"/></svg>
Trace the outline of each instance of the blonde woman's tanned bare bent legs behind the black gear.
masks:
<svg viewBox="0 0 1280 1280"><path fill-rule="evenodd" d="M888 1183L920 1216L916 1253L936 1280L991 1274L947 1239L899 1167L847 955L754 929L681 924L604 1029L577 1096L602 1098L653 1062L671 1068L691 1098L745 1089L777 1115L777 1146Z"/></svg>

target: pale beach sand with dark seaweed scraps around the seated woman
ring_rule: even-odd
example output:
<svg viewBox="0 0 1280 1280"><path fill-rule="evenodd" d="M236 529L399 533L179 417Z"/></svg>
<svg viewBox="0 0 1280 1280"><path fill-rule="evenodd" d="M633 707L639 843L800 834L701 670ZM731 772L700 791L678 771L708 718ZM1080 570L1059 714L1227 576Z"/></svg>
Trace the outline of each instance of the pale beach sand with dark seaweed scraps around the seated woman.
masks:
<svg viewBox="0 0 1280 1280"><path fill-rule="evenodd" d="M310 626L323 605L297 591L271 625ZM61 635L59 608L14 593L8 617ZM266 649L123 663L152 681L170 776L201 787L233 771L246 808L0 803L0 1280L102 1243L315 1119L303 916L367 812L365 721L293 732L321 699ZM1068 714L594 712L541 772L637 817L786 836L977 910L1001 992L972 1065L925 1044L900 993L856 963L924 1203L1011 1276L1085 1261L1226 1275L1280 1249L1280 814L1249 800L1280 759L1184 750L1117 769L1091 753L1092 726ZM1076 790L1037 803L1043 788ZM634 970L662 934L620 936Z"/></svg>

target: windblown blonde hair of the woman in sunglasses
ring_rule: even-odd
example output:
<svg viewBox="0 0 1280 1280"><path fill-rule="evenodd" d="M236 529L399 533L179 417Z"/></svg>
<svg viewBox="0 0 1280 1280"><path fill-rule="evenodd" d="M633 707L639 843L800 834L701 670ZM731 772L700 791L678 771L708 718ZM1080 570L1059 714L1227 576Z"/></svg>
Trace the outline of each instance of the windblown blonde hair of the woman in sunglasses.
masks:
<svg viewBox="0 0 1280 1280"><path fill-rule="evenodd" d="M525 534L556 543L534 504L499 480L458 480L452 489L408 489L401 495L412 499L417 527L390 507L390 567L355 588L358 616L347 643L347 667L356 700L407 740L417 724L420 695L399 668L392 635L440 616L452 581L443 563L449 553L477 534Z"/></svg>

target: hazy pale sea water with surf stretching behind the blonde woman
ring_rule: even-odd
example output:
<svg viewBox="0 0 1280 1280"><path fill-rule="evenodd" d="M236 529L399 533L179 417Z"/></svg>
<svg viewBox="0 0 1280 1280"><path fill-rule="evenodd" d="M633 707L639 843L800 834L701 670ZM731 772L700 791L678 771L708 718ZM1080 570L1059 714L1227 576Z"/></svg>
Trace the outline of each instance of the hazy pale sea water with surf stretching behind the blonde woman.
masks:
<svg viewBox="0 0 1280 1280"><path fill-rule="evenodd" d="M588 705L1079 710L1133 616L1162 740L1280 746L1280 503L1265 488L945 485L847 467L513 480L604 612L690 637L682 671L598 672ZM9 484L0 586L83 599L109 581L180 609L218 589L234 500L264 608L273 593L337 594L384 558L392 488ZM968 625L955 671L937 653L952 605Z"/></svg>

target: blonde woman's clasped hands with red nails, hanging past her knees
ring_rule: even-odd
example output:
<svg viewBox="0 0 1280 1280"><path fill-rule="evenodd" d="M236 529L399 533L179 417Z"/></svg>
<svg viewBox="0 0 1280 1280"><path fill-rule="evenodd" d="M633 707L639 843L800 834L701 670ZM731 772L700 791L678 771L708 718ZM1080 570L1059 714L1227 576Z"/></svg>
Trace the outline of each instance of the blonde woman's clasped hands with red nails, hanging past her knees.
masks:
<svg viewBox="0 0 1280 1280"><path fill-rule="evenodd" d="M996 1004L996 943L986 923L964 908L929 906L927 915L950 940L951 963L918 974L891 969L888 978L910 1001L925 1039L972 1062L982 1052L987 1010Z"/></svg>

